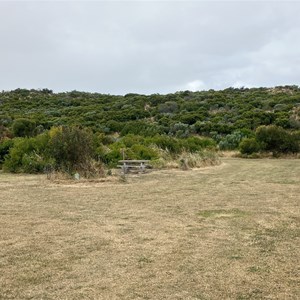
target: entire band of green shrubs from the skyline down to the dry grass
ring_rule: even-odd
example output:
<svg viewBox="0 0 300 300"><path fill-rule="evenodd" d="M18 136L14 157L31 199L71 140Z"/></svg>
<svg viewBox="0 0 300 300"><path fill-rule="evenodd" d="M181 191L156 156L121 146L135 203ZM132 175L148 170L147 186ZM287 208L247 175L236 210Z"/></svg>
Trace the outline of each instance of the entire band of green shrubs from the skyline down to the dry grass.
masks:
<svg viewBox="0 0 300 300"><path fill-rule="evenodd" d="M162 151L175 157L207 147L296 153L299 130L298 86L125 96L0 93L0 164L13 172L89 170L92 161L116 165L122 153L157 160Z"/></svg>

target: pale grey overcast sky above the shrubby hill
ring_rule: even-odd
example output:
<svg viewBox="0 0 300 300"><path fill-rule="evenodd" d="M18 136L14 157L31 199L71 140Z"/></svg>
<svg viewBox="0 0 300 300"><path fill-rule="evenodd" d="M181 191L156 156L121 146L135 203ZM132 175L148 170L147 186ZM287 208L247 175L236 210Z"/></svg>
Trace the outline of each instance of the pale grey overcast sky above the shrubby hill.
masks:
<svg viewBox="0 0 300 300"><path fill-rule="evenodd" d="M300 85L300 1L1 1L0 90Z"/></svg>

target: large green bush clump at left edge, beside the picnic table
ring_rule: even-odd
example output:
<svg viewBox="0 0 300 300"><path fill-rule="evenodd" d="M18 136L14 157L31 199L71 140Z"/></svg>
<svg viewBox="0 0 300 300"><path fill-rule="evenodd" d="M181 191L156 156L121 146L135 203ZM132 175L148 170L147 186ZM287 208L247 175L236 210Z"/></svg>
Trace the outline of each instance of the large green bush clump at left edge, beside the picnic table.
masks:
<svg viewBox="0 0 300 300"><path fill-rule="evenodd" d="M50 168L72 173L87 169L94 156L92 134L77 127L54 127L36 137L0 145L6 154L3 169L10 172L40 173Z"/></svg>

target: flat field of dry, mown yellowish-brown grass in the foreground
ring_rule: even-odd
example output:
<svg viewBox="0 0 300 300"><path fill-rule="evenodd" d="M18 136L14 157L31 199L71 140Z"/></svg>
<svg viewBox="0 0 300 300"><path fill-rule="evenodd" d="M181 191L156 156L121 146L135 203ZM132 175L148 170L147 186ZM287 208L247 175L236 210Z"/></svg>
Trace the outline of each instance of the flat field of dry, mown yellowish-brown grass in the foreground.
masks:
<svg viewBox="0 0 300 300"><path fill-rule="evenodd" d="M300 160L0 173L0 299L300 299Z"/></svg>

